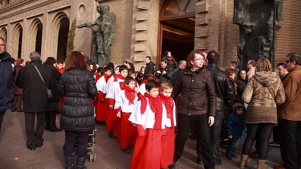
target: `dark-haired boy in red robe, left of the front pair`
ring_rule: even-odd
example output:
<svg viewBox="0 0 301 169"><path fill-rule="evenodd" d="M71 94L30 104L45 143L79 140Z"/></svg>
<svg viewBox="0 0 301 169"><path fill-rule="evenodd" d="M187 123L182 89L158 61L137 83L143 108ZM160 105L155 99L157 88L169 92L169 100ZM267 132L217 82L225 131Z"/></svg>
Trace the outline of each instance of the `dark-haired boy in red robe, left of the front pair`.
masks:
<svg viewBox="0 0 301 169"><path fill-rule="evenodd" d="M159 95L159 84L146 83L144 97L134 106L129 121L137 128L137 138L131 161L131 169L159 169L161 139L167 122L166 108Z"/></svg>

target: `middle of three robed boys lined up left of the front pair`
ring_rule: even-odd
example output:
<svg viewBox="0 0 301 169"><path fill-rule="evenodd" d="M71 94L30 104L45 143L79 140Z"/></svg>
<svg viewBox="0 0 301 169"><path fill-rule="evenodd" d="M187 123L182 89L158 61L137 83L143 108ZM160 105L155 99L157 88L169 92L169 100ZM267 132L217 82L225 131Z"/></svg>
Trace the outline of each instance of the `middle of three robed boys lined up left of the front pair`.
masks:
<svg viewBox="0 0 301 169"><path fill-rule="evenodd" d="M124 78L128 76L128 67L126 65L121 65L119 67L119 75L114 78L114 81L109 86L106 98L109 99L109 111L107 115L106 127L109 132L109 137L113 138L113 134L118 136L119 131L119 118L117 118L117 109L114 109L114 104L117 95L124 90Z"/></svg>

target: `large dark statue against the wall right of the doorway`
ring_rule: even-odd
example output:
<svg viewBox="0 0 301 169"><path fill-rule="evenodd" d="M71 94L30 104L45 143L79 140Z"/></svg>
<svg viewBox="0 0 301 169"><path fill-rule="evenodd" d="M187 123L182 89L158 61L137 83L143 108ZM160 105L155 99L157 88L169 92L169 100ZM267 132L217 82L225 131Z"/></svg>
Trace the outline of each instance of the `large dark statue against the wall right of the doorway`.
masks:
<svg viewBox="0 0 301 169"><path fill-rule="evenodd" d="M234 0L233 23L239 26L239 67L245 68L249 60L262 57L274 65L282 9L282 0Z"/></svg>

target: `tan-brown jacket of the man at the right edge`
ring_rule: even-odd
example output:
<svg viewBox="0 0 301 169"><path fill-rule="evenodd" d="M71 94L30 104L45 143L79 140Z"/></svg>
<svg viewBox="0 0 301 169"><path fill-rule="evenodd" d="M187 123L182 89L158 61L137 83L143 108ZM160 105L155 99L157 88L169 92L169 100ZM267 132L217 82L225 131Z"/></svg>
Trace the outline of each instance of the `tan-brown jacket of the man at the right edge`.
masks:
<svg viewBox="0 0 301 169"><path fill-rule="evenodd" d="M283 86L286 100L277 108L278 118L301 121L301 66L286 75Z"/></svg>

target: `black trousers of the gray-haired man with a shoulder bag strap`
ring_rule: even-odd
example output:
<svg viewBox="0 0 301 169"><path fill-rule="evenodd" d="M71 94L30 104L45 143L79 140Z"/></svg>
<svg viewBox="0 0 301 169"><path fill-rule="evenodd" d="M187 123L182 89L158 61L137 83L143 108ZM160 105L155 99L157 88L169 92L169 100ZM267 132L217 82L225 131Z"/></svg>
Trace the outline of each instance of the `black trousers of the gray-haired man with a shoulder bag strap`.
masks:
<svg viewBox="0 0 301 169"><path fill-rule="evenodd" d="M43 144L45 112L29 113L25 112L25 131L27 146L35 148ZM36 128L34 129L34 118L36 114Z"/></svg>

